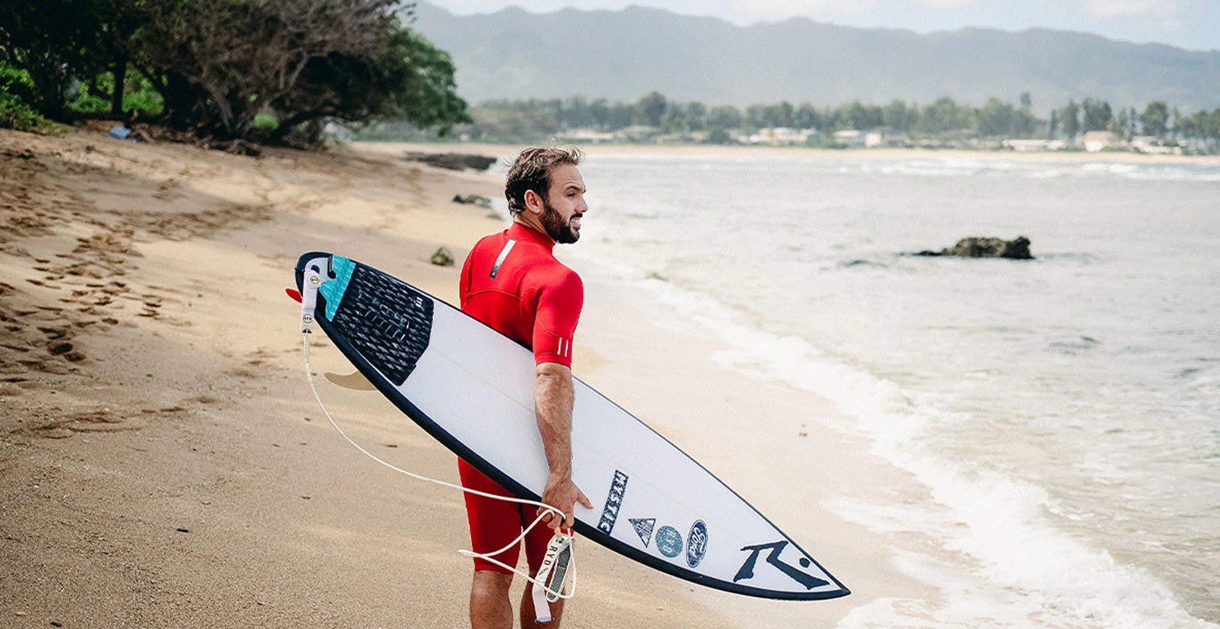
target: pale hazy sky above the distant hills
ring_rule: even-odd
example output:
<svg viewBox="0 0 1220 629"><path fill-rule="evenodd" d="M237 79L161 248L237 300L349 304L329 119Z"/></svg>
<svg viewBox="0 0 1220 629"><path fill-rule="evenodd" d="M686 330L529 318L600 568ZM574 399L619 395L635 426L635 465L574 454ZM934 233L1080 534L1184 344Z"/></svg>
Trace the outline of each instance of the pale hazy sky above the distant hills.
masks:
<svg viewBox="0 0 1220 629"><path fill-rule="evenodd" d="M1021 31L1046 27L1110 39L1220 50L1220 0L429 0L453 13L489 13L505 6L532 12L564 7L617 10L627 5L715 16L737 24L803 16L856 27L927 33L966 26Z"/></svg>

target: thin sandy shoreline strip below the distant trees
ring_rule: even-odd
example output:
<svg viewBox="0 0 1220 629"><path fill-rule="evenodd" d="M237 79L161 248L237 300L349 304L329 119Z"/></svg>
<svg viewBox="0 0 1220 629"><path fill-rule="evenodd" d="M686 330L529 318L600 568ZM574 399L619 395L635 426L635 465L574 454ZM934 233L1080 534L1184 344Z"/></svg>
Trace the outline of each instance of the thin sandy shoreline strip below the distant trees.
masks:
<svg viewBox="0 0 1220 629"><path fill-rule="evenodd" d="M353 142L372 153L475 153L481 155L516 154L526 144ZM814 149L808 147L728 147L722 144L577 144L589 155L805 155L824 159L914 160L949 159L980 161L1022 161L1063 164L1200 164L1220 165L1220 155L1148 155L1126 151L1013 151L1013 150L936 150L936 149Z"/></svg>

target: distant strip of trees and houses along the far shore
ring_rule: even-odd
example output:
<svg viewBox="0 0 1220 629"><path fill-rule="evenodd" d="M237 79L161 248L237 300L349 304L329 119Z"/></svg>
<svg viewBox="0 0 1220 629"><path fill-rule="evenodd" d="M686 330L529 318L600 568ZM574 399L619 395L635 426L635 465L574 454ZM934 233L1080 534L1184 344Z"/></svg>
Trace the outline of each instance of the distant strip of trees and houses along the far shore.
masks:
<svg viewBox="0 0 1220 629"><path fill-rule="evenodd" d="M636 103L567 99L493 100L471 110L473 122L455 127L455 134L482 142L687 142L711 144L772 143L819 148L845 147L836 132L875 132L884 142L930 148L985 148L1004 139L1071 140L1092 131L1119 138L1149 136L1159 144L1190 143L1196 151L1220 151L1220 107L1183 114L1164 100L1136 107L1113 109L1100 99L1069 100L1048 117L1033 111L1032 98L1016 104L991 98L971 106L944 96L926 105L893 100L876 105L853 100L837 107L810 103L709 106L680 103L658 92ZM784 133L777 134L777 129ZM427 139L427 132L395 123L371 125L365 139ZM863 142L863 136L860 137Z"/></svg>

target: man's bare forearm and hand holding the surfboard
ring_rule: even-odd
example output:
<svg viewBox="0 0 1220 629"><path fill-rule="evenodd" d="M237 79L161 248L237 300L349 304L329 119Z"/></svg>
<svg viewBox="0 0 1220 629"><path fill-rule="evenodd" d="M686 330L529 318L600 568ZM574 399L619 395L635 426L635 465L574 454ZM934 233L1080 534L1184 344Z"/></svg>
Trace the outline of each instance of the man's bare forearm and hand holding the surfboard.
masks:
<svg viewBox="0 0 1220 629"><path fill-rule="evenodd" d="M542 490L542 502L564 512L564 519L547 517L543 522L551 529L571 526L572 506L580 502L592 509L593 503L572 482L572 370L559 363L542 363L534 371L534 410L538 415L538 432L547 451L550 475Z"/></svg>

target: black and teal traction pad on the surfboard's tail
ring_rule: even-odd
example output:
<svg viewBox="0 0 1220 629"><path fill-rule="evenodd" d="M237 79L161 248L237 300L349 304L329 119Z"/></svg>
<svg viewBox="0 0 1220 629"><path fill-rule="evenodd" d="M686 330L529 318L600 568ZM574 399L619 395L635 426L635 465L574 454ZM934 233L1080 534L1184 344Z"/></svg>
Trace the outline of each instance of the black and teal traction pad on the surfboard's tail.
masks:
<svg viewBox="0 0 1220 629"><path fill-rule="evenodd" d="M327 333L342 336L387 380L401 386L428 348L432 298L339 255L332 256L331 271L332 277L318 288L329 321Z"/></svg>

